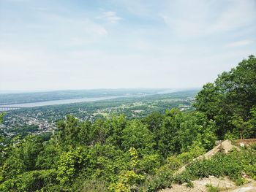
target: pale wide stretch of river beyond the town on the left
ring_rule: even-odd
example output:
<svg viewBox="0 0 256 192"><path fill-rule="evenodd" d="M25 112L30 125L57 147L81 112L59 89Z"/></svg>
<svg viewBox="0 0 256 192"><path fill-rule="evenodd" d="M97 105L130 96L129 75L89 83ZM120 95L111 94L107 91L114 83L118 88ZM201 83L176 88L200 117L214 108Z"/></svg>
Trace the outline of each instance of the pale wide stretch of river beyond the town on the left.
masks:
<svg viewBox="0 0 256 192"><path fill-rule="evenodd" d="M79 103L79 102L86 102L86 101L101 101L107 99L117 99L124 96L102 96L102 97L91 97L91 98L80 98L80 99L61 99L61 100L54 100L54 101L42 101L42 102L34 102L34 103L25 103L25 104L4 104L0 105L0 107L40 107L46 105L53 105L53 104L72 104L72 103ZM125 96L127 97L127 96Z"/></svg>

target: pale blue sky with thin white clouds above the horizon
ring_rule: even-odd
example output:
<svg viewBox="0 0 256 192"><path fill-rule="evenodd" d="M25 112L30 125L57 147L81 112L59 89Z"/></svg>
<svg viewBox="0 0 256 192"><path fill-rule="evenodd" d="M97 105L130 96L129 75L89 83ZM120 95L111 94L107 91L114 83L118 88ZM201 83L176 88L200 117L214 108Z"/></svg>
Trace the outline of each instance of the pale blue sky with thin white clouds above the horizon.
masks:
<svg viewBox="0 0 256 192"><path fill-rule="evenodd" d="M256 0L0 0L0 91L200 88L256 54Z"/></svg>

